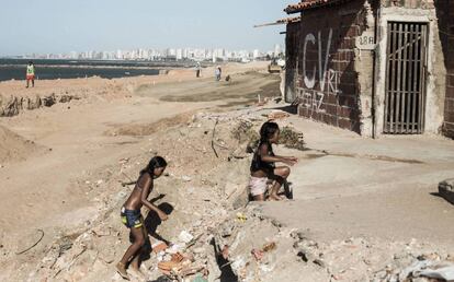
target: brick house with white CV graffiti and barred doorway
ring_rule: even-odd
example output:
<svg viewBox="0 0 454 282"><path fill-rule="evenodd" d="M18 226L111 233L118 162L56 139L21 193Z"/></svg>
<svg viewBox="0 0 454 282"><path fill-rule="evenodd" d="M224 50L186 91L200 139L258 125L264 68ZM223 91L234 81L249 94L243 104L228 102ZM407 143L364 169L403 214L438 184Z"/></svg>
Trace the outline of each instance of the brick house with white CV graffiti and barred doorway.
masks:
<svg viewBox="0 0 454 282"><path fill-rule="evenodd" d="M303 117L363 136L452 134L454 10L449 2L288 5L285 11L299 13L300 22L286 28L286 101L297 104Z"/></svg>

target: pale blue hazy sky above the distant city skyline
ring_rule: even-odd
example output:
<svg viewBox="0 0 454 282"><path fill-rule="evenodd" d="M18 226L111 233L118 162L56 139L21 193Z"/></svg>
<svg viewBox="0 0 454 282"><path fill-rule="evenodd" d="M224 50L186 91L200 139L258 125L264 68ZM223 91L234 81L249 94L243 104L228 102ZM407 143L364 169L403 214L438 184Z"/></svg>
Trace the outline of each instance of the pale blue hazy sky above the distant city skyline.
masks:
<svg viewBox="0 0 454 282"><path fill-rule="evenodd" d="M166 47L273 49L297 0L1 0L0 55Z"/></svg>

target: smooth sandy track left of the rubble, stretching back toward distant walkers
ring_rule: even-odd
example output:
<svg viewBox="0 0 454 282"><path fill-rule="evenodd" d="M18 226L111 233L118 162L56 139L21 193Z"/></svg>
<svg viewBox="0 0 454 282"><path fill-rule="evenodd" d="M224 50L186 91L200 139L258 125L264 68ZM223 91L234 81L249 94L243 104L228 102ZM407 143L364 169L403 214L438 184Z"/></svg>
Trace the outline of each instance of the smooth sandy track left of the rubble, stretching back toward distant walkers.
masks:
<svg viewBox="0 0 454 282"><path fill-rule="evenodd" d="M157 91L149 84L130 98L77 101L3 118L0 125L33 140L39 149L26 161L11 162L0 169L3 199L0 212L14 214L0 219L2 243L18 245L20 249L20 245L26 245L21 243L22 237L35 234L37 228L43 228L49 235L46 238L52 238L59 227L77 226L94 216L97 207L87 197L87 186L81 185L84 179L122 157L150 150L144 145L147 137L114 136L116 128L149 128L160 119L225 105L225 101L245 103L243 96L256 96L266 85L273 84L276 89L275 81L263 74L245 74L236 82L235 91L225 92L222 99L209 101L197 98L201 94L197 87L205 95L229 86L206 83L207 79L191 82L191 103L159 99L166 89L188 96L186 83L166 82L155 87ZM247 82L245 92L242 84Z"/></svg>

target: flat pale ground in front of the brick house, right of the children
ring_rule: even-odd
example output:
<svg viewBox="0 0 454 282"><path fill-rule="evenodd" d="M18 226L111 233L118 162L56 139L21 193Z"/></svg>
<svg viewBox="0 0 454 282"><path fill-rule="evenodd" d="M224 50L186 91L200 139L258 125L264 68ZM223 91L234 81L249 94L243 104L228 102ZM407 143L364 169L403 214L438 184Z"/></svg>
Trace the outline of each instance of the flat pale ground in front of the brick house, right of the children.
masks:
<svg viewBox="0 0 454 282"><path fill-rule="evenodd" d="M291 175L295 201L266 203L268 215L319 240L416 238L453 248L454 210L432 195L439 181L454 176L452 140L372 140L295 117L291 122L313 150L296 153L300 162Z"/></svg>

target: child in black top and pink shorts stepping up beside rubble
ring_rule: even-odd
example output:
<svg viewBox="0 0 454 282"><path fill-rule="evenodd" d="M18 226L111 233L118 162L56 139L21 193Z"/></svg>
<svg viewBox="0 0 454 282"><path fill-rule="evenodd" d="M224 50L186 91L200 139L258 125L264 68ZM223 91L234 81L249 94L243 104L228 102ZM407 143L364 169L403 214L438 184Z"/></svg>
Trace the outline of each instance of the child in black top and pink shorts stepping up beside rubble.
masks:
<svg viewBox="0 0 454 282"><path fill-rule="evenodd" d="M277 124L266 121L260 129L260 141L251 163L251 179L249 183L250 193L256 201L264 201L268 180L273 181L268 200L279 201L282 198L277 195L281 186L286 184L290 175L288 166L275 166L274 163L281 162L293 166L298 162L294 156L279 156L273 152L272 144L277 144L280 129Z"/></svg>

